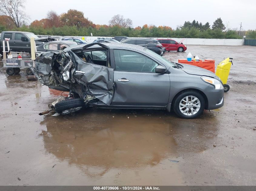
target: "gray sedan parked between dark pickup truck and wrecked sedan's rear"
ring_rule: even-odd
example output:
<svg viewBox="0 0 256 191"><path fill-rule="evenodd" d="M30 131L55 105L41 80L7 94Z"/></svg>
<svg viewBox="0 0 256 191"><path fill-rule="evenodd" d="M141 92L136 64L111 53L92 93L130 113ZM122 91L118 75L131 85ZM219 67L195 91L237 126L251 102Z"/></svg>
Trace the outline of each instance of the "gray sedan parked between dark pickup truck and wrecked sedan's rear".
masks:
<svg viewBox="0 0 256 191"><path fill-rule="evenodd" d="M37 52L47 52L47 51L59 51L64 50L67 47L77 45L76 42L68 41L68 40L56 40L53 42L48 42L37 46Z"/></svg>

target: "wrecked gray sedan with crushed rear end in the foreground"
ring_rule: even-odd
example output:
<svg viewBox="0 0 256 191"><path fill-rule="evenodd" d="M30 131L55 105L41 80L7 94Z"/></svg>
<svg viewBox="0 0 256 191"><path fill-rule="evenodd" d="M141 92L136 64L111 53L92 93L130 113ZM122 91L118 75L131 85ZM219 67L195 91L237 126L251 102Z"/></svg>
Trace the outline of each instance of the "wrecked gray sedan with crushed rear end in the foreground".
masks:
<svg viewBox="0 0 256 191"><path fill-rule="evenodd" d="M31 69L42 84L69 92L52 106L62 114L87 106L148 108L192 119L224 104L223 84L214 73L137 45L81 44L39 54Z"/></svg>

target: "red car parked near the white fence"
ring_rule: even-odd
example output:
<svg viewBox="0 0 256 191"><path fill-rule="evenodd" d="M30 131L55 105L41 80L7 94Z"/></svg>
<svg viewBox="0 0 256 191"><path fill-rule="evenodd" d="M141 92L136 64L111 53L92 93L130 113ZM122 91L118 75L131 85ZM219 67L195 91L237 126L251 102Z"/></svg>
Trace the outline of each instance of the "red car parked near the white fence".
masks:
<svg viewBox="0 0 256 191"><path fill-rule="evenodd" d="M165 47L165 50L170 52L170 51L178 51L178 52L183 52L187 49L187 46L182 44L182 43L177 43L175 40L172 39L157 39L159 43Z"/></svg>

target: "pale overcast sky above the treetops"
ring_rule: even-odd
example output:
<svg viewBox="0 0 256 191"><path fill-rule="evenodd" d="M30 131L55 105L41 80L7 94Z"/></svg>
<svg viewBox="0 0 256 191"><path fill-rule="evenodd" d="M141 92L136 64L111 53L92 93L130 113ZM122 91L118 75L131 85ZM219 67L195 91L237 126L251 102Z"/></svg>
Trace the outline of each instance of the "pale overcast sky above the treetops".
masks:
<svg viewBox="0 0 256 191"><path fill-rule="evenodd" d="M69 9L84 12L95 24L108 24L115 14L133 21L133 27L165 25L176 29L185 21L194 19L203 24L213 24L221 17L228 28L256 29L256 0L26 0L26 13L30 22L46 17L47 11L58 14Z"/></svg>

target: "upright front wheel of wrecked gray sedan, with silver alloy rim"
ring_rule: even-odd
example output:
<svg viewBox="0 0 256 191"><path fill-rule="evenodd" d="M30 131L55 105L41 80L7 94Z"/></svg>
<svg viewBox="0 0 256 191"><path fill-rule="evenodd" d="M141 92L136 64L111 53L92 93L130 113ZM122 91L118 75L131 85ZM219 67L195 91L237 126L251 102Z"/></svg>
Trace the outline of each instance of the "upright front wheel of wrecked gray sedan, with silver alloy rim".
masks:
<svg viewBox="0 0 256 191"><path fill-rule="evenodd" d="M187 100L188 102L187 103L184 102L184 101L182 102L183 98L186 98L187 96L188 96L188 100ZM198 100L195 100L193 103L191 103L190 102L191 101L191 97L190 96L198 98L199 102L198 102ZM180 108L180 103L184 104L185 107L184 108ZM193 104L194 104L194 106L193 106ZM195 107L195 105L200 106L199 110L198 110L198 107ZM186 107L186 106L188 106L188 107ZM181 118L184 118L184 119L194 119L194 118L197 118L198 116L200 116L204 112L204 106L205 106L204 97L199 92L197 92L197 91L189 90L189 91L182 92L181 94L179 94L175 98L173 110L176 113L176 115L181 117ZM193 108L193 113L195 112L195 110L197 110L197 112L192 115L192 112L191 112L190 108ZM184 114L184 113L181 112L181 110L183 110L183 111L187 110L187 112L185 112L185 114Z"/></svg>

